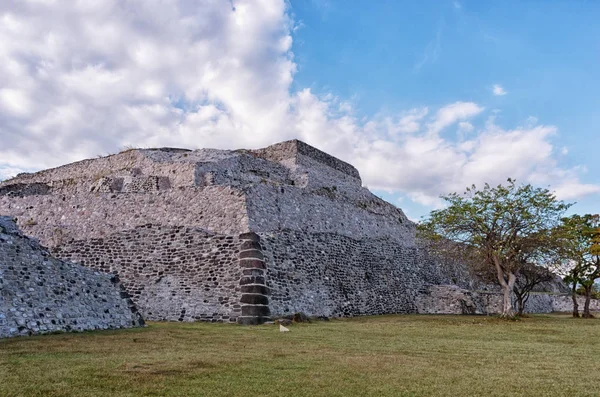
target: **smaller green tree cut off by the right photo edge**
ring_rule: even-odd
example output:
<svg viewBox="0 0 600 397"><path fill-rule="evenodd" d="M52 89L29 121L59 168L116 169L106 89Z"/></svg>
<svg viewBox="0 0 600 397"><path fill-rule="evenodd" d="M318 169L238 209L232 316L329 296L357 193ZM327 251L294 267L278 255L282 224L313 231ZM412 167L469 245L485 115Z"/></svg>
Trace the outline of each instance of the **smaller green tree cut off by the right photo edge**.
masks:
<svg viewBox="0 0 600 397"><path fill-rule="evenodd" d="M569 265L564 280L571 285L573 317L579 317L577 286L581 285L585 293L583 317L591 318L592 291L594 283L600 278L600 215L564 218L558 230L564 241L564 258Z"/></svg>

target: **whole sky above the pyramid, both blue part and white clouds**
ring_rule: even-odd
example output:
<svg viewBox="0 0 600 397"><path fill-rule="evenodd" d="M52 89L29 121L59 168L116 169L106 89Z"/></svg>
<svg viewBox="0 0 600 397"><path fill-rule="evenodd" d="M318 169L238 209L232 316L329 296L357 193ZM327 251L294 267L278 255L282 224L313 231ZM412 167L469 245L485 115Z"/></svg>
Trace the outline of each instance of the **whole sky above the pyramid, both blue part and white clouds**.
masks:
<svg viewBox="0 0 600 397"><path fill-rule="evenodd" d="M583 0L3 2L0 179L298 138L412 219L508 177L597 213L599 19Z"/></svg>

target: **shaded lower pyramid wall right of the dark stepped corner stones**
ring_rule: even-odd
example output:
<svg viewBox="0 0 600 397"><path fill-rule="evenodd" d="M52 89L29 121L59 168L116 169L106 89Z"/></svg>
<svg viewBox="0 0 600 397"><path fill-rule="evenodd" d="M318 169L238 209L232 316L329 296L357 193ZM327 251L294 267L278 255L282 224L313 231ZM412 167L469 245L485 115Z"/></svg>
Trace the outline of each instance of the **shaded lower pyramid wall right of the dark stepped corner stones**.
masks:
<svg viewBox="0 0 600 397"><path fill-rule="evenodd" d="M259 233L275 316L416 313L429 284L449 282L415 247L333 233Z"/></svg>

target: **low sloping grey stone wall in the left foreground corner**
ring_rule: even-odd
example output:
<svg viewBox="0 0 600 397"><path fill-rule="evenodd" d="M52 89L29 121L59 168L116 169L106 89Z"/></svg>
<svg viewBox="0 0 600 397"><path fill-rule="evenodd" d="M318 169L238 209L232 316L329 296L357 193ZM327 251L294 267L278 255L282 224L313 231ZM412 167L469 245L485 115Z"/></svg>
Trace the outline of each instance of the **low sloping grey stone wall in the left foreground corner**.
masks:
<svg viewBox="0 0 600 397"><path fill-rule="evenodd" d="M0 338L142 326L117 281L55 259L0 217Z"/></svg>

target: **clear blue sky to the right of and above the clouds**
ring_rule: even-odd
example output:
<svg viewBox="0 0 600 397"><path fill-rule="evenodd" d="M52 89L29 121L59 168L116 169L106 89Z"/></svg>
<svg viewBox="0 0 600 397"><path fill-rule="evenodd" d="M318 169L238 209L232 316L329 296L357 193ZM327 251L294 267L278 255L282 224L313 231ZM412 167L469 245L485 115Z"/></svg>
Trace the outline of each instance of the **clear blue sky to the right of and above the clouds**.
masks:
<svg viewBox="0 0 600 397"><path fill-rule="evenodd" d="M560 161L600 181L599 2L291 4L298 88L351 98L367 117L457 100L497 109L507 127L536 117L558 127ZM598 211L598 195L578 201L574 211Z"/></svg>

